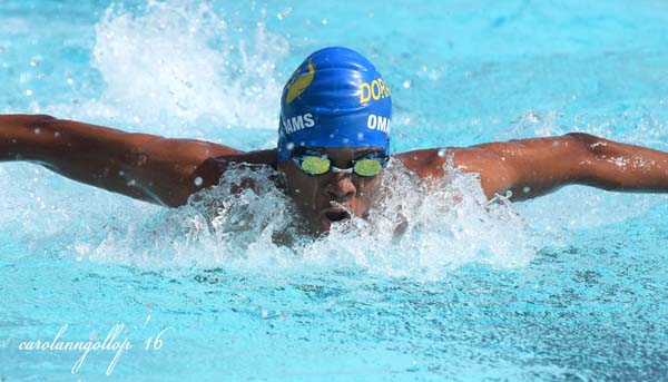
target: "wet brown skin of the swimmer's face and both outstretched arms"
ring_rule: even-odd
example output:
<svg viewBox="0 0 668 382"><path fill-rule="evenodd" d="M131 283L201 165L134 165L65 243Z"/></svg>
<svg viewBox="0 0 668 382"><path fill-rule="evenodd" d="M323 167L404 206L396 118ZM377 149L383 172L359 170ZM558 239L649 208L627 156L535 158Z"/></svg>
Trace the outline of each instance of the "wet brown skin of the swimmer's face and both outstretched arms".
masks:
<svg viewBox="0 0 668 382"><path fill-rule="evenodd" d="M365 151L326 149L340 168L350 167ZM288 195L315 233L345 218L346 209L367 215L381 176L330 173L313 177L292 160L278 164L276 157L276 149L244 153L209 141L129 134L50 116L0 115L0 161L36 163L137 199L181 206L193 194L217 185L229 164L245 163L283 172ZM444 164L451 158L454 168L478 174L488 198L510 192L512 200L524 200L573 184L618 192L668 192L668 153L582 133L419 149L394 157L421 178L444 176Z"/></svg>

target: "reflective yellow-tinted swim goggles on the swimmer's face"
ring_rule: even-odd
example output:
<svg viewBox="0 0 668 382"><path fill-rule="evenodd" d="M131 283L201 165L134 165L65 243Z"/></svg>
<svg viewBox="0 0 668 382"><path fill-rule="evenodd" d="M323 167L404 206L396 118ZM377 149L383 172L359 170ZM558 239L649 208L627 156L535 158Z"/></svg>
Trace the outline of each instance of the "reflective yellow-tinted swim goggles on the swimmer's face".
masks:
<svg viewBox="0 0 668 382"><path fill-rule="evenodd" d="M387 160L389 158L384 153L374 151L353 160L351 163L352 167L338 168L332 166L332 160L323 153L305 150L303 154L293 156L295 165L308 175L323 175L332 172L342 174L355 173L360 176L374 176L385 168Z"/></svg>

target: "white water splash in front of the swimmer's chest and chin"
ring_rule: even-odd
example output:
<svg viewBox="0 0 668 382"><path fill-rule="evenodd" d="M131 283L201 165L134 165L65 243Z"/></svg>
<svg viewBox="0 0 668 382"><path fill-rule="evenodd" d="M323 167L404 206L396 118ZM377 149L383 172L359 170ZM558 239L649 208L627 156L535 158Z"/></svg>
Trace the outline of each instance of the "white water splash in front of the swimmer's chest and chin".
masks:
<svg viewBox="0 0 668 382"><path fill-rule="evenodd" d="M281 174L240 166L188 206L109 232L101 242L78 237L73 249L79 259L151 268L353 268L414 280L442 280L464 264L507 268L533 258L522 219L503 198L489 203L477 176L451 169L449 178L426 184L396 160L386 173L369 221L334 224L317 239L303 233L292 202L271 180ZM243 179L255 186L230 193Z"/></svg>

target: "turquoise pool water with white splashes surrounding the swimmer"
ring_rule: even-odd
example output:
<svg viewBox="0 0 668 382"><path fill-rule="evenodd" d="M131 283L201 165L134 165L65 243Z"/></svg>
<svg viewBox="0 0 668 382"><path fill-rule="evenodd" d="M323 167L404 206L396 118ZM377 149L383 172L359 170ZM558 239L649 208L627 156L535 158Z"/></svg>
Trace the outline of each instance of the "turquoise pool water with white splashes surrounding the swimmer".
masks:
<svg viewBox="0 0 668 382"><path fill-rule="evenodd" d="M9 0L0 111L268 148L294 67L343 45L392 88L397 151L573 130L668 150L667 7ZM286 245L271 186L166 210L1 164L0 380L105 379L115 351L72 374L81 352L20 349L63 324L124 324L120 381L667 379L665 196L485 206L474 178L391 172L375 218Z"/></svg>

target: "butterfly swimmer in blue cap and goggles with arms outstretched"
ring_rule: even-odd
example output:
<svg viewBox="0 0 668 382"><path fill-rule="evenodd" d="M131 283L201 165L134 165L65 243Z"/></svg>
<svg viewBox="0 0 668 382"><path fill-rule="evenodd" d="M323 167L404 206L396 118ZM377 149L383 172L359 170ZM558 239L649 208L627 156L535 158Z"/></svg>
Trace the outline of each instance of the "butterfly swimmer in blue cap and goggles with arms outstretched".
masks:
<svg viewBox="0 0 668 382"><path fill-rule="evenodd" d="M314 233L354 214L366 217L391 156L392 101L374 66L346 48L312 53L282 95L278 147L244 153L191 139L60 120L0 116L0 160L40 164L71 179L166 206L216 185L233 163L285 175L286 193ZM488 198L512 200L564 185L668 192L668 153L588 134L420 149L393 155L421 178L443 177L446 161L480 176Z"/></svg>

